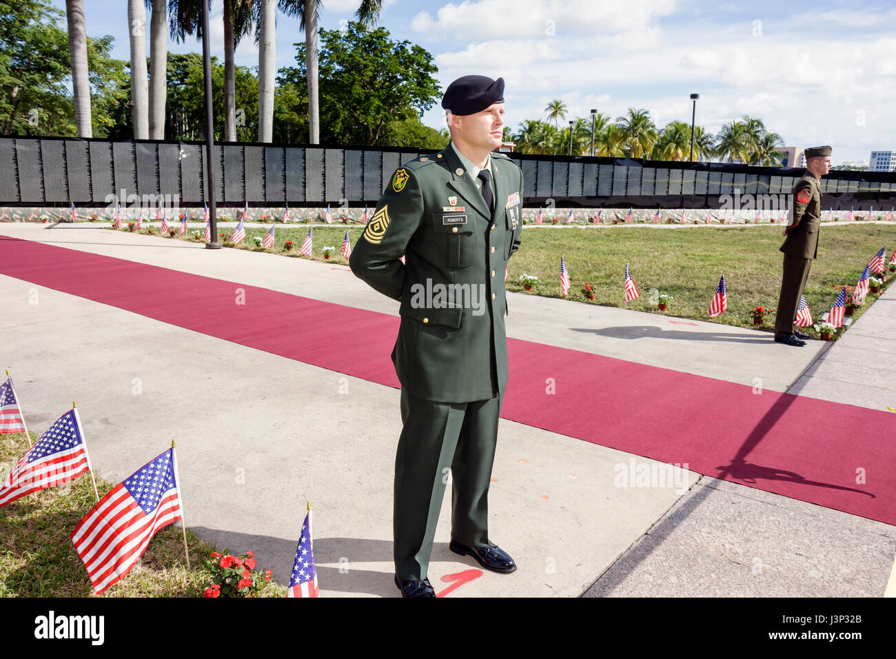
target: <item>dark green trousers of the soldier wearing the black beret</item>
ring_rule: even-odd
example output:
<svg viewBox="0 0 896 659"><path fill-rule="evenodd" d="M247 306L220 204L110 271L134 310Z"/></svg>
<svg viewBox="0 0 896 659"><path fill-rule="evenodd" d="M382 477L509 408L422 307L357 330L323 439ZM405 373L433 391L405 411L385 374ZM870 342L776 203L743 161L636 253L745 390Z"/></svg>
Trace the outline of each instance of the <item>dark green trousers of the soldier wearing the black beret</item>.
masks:
<svg viewBox="0 0 896 659"><path fill-rule="evenodd" d="M488 542L488 485L495 462L501 398L435 403L401 390L401 438L395 455L392 517L395 574L425 579L448 472L452 538Z"/></svg>

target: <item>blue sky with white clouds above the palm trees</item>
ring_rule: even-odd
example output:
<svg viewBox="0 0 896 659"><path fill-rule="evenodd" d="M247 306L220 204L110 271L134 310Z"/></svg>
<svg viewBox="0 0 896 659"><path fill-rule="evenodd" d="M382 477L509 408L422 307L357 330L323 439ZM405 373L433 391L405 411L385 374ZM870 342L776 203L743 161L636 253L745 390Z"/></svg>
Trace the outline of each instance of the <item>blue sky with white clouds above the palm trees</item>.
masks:
<svg viewBox="0 0 896 659"><path fill-rule="evenodd" d="M65 0L53 0L65 10ZM124 0L84 0L90 36L115 37L129 59ZM358 0L323 0L321 27L351 20ZM711 133L742 115L760 117L787 145L831 144L835 163L896 150L896 6L883 2L793 4L694 0L384 0L382 24L435 56L443 87L463 74L503 76L505 118L544 118L553 99L570 116L645 108L658 126L690 122ZM211 48L221 55L221 2ZM149 14L147 14L149 15ZM278 16L277 65L295 64L298 22ZM147 39L148 42L148 39ZM148 46L148 43L147 43ZM196 39L172 52L201 52ZM147 51L147 54L148 51ZM251 39L237 64L258 64ZM426 112L429 126L442 111Z"/></svg>

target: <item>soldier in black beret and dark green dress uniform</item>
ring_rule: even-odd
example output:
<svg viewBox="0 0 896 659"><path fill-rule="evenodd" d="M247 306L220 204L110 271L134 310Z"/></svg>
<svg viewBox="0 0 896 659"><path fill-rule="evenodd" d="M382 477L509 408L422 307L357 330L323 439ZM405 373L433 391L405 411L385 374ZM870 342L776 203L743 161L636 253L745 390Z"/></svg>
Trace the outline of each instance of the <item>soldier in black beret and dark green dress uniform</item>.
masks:
<svg viewBox="0 0 896 659"><path fill-rule="evenodd" d="M504 79L459 78L442 107L451 143L395 170L349 258L360 279L401 302L393 533L405 597L435 597L426 570L449 470L451 550L495 572L516 569L489 542L487 495L507 384L504 268L520 246L522 172L493 152Z"/></svg>

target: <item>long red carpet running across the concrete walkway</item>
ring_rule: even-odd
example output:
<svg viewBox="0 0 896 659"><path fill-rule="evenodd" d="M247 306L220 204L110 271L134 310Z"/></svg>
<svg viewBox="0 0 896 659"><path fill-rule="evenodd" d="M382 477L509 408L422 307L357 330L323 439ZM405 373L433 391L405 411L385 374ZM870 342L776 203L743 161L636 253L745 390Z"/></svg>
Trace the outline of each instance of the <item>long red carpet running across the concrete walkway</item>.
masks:
<svg viewBox="0 0 896 659"><path fill-rule="evenodd" d="M399 386L389 358L397 316L5 236L0 273ZM245 305L235 303L237 289ZM754 395L749 386L529 341L511 339L508 351L505 419L896 525L889 412Z"/></svg>

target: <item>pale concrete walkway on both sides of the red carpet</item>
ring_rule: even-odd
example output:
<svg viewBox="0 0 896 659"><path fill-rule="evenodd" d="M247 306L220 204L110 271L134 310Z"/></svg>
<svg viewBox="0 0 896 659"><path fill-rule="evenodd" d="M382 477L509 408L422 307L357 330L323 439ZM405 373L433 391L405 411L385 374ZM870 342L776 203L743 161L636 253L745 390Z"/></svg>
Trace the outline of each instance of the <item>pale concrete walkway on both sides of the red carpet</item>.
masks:
<svg viewBox="0 0 896 659"><path fill-rule="evenodd" d="M100 230L0 224L0 234L397 314L347 267ZM399 392L0 276L4 350L30 429L78 402L95 469L118 481L177 438L187 524L253 550L288 579L306 499L323 596L397 596L392 468ZM508 335L667 369L896 407L891 290L839 342L796 350L771 334L511 293ZM363 337L358 337L363 341ZM283 341L314 341L284 336ZM874 365L873 367L868 365ZM874 377L870 388L867 377ZM863 379L865 378L865 379ZM883 438L882 438L883 440ZM520 565L450 596L883 594L896 527L680 473L618 488L641 456L501 421L490 535ZM450 494L429 577L478 568L447 549Z"/></svg>

